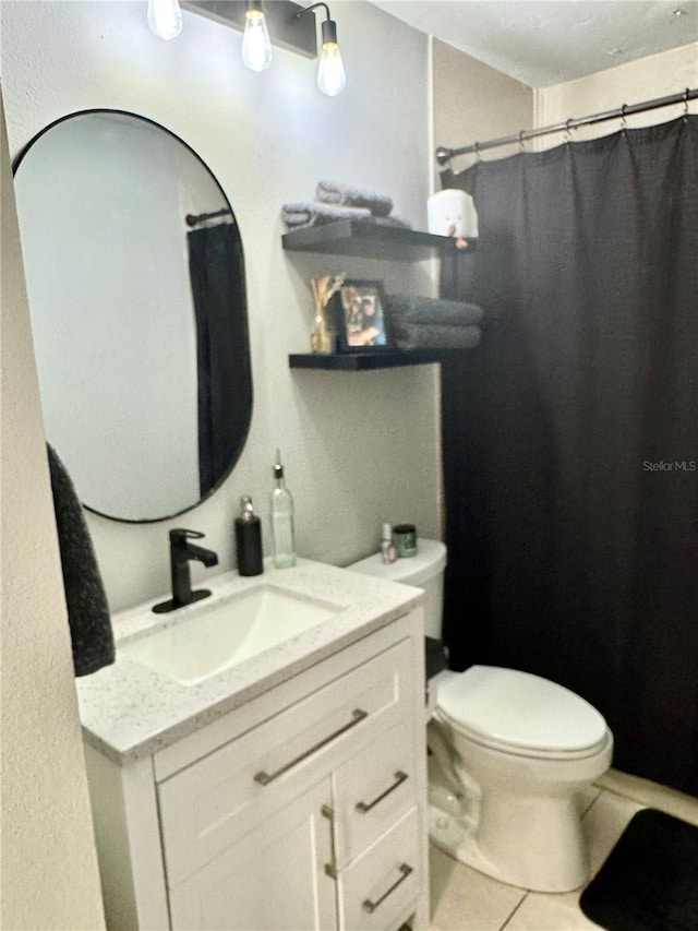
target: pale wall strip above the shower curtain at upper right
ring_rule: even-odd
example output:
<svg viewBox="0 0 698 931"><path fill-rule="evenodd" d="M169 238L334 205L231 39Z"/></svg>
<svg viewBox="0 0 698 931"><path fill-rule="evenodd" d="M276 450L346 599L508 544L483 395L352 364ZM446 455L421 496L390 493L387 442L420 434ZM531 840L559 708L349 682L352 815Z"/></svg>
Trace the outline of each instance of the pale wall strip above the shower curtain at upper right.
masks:
<svg viewBox="0 0 698 931"><path fill-rule="evenodd" d="M535 126L553 126L570 117L614 110L623 104L640 104L655 97L679 94L686 87L698 86L698 43L671 49L670 51L629 61L606 71L599 71L577 81L541 87L537 91ZM697 112L696 103L689 104ZM683 105L648 110L628 117L628 128L651 126L675 119L684 111ZM609 120L593 127L574 130L573 140L593 139L617 132L619 120ZM555 135L541 142L545 147L558 145L563 140Z"/></svg>

